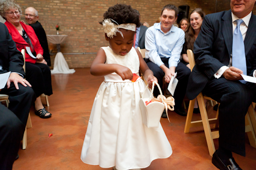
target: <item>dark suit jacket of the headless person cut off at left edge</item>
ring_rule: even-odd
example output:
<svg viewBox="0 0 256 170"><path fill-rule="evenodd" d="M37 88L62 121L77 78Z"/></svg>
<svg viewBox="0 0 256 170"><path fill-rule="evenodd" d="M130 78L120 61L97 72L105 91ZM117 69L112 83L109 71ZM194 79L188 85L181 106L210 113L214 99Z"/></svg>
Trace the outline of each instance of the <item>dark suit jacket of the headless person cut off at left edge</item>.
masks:
<svg viewBox="0 0 256 170"><path fill-rule="evenodd" d="M18 72L25 77L23 69L24 59L15 42L12 40L4 23L0 22L0 65L3 67L0 74L8 71Z"/></svg>

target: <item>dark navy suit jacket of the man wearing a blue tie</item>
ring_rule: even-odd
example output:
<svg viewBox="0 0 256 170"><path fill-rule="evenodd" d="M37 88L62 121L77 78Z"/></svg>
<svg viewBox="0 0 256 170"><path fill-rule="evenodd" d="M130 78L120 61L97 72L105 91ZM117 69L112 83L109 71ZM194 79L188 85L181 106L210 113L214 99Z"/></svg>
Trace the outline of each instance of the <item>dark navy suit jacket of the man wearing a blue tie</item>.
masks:
<svg viewBox="0 0 256 170"><path fill-rule="evenodd" d="M206 15L194 44L196 65L188 80L187 97L193 100L222 66L228 65L232 54L231 10ZM256 69L256 16L252 14L244 40L247 75ZM256 87L253 83L248 86Z"/></svg>

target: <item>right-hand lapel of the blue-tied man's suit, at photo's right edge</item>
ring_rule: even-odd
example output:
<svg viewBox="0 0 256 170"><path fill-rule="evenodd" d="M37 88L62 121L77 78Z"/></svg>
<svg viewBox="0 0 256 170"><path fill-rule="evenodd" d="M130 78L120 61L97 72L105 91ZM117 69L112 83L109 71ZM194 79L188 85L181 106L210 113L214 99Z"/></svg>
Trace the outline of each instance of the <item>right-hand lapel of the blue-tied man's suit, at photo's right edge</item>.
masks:
<svg viewBox="0 0 256 170"><path fill-rule="evenodd" d="M249 22L248 30L246 32L246 36L244 39L244 46L245 46L245 56L251 49L252 44L256 40L256 16L251 14L251 19Z"/></svg>

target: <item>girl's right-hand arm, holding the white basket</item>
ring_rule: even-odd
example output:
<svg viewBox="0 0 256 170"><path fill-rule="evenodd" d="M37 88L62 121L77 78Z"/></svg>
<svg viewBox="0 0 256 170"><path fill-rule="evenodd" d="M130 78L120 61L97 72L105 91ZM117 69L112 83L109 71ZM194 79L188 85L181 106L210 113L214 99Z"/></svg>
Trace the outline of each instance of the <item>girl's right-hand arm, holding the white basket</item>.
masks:
<svg viewBox="0 0 256 170"><path fill-rule="evenodd" d="M152 83L153 81L158 82L157 78L154 76L153 71L148 68L146 62L144 61L144 59L142 58L139 50L136 49L136 52L139 56L139 60L140 60L140 71L142 73L142 75L144 76L146 82L148 83L148 85L150 86L150 88L152 88Z"/></svg>

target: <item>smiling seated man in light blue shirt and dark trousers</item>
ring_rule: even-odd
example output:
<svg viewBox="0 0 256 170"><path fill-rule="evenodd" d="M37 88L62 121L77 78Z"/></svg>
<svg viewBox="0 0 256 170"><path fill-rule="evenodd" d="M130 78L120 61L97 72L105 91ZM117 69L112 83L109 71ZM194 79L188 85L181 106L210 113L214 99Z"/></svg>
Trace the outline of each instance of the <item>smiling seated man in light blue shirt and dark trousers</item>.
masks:
<svg viewBox="0 0 256 170"><path fill-rule="evenodd" d="M187 113L181 107L186 93L187 81L190 70L185 64L180 62L180 53L185 41L185 33L173 24L177 20L178 8L174 5L166 5L162 9L160 23L155 23L146 31L145 36L145 58L148 67L154 72L159 85L163 86L163 77L166 83L169 83L172 76L177 72L179 80L174 92L175 112L186 116ZM163 90L163 89L162 89ZM159 95L156 88L154 95ZM164 111L162 117L167 117Z"/></svg>

